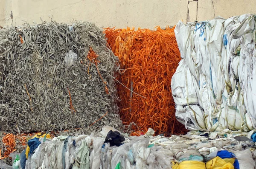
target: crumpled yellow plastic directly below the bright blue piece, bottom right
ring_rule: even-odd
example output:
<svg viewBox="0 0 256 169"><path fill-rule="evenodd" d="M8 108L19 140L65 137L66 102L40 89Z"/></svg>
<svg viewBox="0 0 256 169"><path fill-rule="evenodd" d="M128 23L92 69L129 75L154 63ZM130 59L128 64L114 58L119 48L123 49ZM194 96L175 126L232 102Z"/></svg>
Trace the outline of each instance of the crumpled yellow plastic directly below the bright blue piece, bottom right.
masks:
<svg viewBox="0 0 256 169"><path fill-rule="evenodd" d="M206 169L234 169L234 158L215 157L206 163Z"/></svg>

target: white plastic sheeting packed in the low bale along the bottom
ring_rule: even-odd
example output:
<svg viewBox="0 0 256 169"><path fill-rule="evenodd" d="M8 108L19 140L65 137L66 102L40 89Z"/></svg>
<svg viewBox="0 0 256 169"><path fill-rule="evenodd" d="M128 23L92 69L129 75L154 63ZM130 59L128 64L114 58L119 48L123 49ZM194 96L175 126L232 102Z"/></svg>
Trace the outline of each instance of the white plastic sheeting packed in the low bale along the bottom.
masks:
<svg viewBox="0 0 256 169"><path fill-rule="evenodd" d="M255 143L236 139L236 136L250 138L246 132L226 129L221 132L189 132L170 138L132 136L126 137L121 146L110 146L104 144L106 131L97 135L58 136L45 141L39 138L41 144L29 156L25 169L172 169L172 162L206 162L216 156L211 157L214 152L221 150L233 152L241 163L240 169L255 167ZM206 134L207 137L200 136ZM9 169L1 161L0 168Z"/></svg>

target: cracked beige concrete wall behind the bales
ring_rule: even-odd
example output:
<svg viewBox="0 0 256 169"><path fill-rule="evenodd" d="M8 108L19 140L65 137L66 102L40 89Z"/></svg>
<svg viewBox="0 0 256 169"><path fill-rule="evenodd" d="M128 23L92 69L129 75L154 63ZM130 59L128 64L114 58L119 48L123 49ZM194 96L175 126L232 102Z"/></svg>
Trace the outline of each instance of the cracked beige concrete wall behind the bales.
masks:
<svg viewBox="0 0 256 169"><path fill-rule="evenodd" d="M12 16L11 16L12 12ZM0 0L0 25L85 20L99 27L151 28L179 20L256 14L256 0Z"/></svg>

